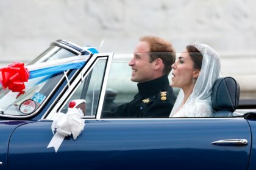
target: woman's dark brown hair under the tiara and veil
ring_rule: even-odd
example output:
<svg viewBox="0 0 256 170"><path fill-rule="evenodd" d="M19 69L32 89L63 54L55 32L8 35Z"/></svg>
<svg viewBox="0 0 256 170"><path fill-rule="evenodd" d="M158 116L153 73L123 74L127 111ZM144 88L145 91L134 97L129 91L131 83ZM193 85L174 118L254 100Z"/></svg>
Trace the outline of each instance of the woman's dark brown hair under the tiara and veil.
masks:
<svg viewBox="0 0 256 170"><path fill-rule="evenodd" d="M202 67L202 60L203 60L203 56L202 53L199 52L199 50L197 50L196 47L194 47L193 45L188 45L186 47L188 54L190 55L190 58L193 60L194 63L194 69L200 69Z"/></svg>

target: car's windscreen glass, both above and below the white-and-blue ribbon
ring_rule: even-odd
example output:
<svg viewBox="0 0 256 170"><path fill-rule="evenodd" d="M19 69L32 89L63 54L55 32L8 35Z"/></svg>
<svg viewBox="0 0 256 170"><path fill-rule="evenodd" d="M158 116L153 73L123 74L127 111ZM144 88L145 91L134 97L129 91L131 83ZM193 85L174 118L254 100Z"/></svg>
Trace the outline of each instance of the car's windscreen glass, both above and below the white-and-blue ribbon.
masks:
<svg viewBox="0 0 256 170"><path fill-rule="evenodd" d="M52 45L28 65L47 63L72 56L76 56L76 54L62 47ZM34 113L51 94L62 77L63 72L29 79L28 82L24 83L26 87L23 90L24 94L0 87L0 116L24 116Z"/></svg>

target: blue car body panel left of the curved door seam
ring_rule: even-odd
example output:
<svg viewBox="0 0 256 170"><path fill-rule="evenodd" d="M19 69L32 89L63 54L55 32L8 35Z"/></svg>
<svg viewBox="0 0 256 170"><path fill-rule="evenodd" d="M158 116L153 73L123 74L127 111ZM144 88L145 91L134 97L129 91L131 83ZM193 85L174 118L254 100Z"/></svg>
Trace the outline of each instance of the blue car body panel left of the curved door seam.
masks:
<svg viewBox="0 0 256 170"><path fill-rule="evenodd" d="M16 127L29 121L1 120L0 121L0 162L1 168L7 169L7 152L10 136Z"/></svg>

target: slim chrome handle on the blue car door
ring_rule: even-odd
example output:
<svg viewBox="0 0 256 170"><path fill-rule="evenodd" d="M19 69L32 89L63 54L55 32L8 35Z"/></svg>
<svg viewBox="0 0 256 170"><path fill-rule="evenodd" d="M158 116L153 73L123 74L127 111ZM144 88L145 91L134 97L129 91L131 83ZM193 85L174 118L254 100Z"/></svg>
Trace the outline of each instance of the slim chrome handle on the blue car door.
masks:
<svg viewBox="0 0 256 170"><path fill-rule="evenodd" d="M246 139L226 139L213 141L212 144L219 146L247 146L248 141Z"/></svg>

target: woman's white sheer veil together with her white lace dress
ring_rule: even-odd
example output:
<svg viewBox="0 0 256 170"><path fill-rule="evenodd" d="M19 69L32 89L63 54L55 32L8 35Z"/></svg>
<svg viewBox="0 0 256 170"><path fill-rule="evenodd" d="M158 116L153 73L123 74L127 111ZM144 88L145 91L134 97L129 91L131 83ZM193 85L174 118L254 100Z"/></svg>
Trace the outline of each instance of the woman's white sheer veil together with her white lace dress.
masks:
<svg viewBox="0 0 256 170"><path fill-rule="evenodd" d="M212 87L215 81L221 77L221 62L218 53L206 44L193 44L203 55L202 67L196 80L194 89L186 103L180 107L183 101L183 90L180 89L177 100L169 117L211 117Z"/></svg>

